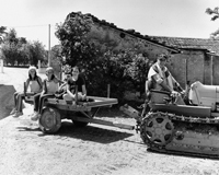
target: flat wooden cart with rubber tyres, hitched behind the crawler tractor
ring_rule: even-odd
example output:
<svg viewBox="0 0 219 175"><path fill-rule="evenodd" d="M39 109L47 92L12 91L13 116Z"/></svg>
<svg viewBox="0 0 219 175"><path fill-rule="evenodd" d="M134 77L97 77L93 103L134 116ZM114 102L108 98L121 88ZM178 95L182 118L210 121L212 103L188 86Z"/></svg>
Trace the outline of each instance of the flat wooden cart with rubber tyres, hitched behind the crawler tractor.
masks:
<svg viewBox="0 0 219 175"><path fill-rule="evenodd" d="M65 100L48 98L44 102L39 118L39 127L45 133L55 133L61 127L61 119L71 119L76 126L84 127L89 122L135 129L134 126L95 119L101 107L117 104L116 98L88 96L85 102L66 102Z"/></svg>

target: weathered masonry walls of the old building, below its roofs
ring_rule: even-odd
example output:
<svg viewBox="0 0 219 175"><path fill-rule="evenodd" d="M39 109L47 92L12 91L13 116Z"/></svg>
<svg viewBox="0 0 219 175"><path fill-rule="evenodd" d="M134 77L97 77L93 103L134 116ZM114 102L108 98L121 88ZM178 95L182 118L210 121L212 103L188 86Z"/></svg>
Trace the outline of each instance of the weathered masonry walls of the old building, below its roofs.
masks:
<svg viewBox="0 0 219 175"><path fill-rule="evenodd" d="M140 46L140 50L147 54L151 61L155 61L157 56L161 52L171 54L171 50L164 46L151 44L146 39L104 25L93 25L89 37L94 42L101 38L103 47L104 43L110 43L117 50ZM200 81L204 84L211 84L211 79L214 79L214 84L219 84L219 79L216 79L216 77L219 77L216 71L219 68L219 60L214 59L214 61L212 73L209 56L204 50L184 49L181 54L172 55L168 68L183 88L185 88L186 81L191 81L191 83ZM214 74L214 78L211 78L211 74Z"/></svg>

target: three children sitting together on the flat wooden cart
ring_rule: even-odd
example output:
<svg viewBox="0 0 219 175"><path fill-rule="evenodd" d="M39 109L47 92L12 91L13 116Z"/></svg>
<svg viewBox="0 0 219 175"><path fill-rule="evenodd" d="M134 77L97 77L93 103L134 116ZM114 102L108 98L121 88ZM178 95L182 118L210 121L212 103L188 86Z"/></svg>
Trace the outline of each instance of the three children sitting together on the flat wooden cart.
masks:
<svg viewBox="0 0 219 175"><path fill-rule="evenodd" d="M24 92L14 93L14 108L10 115L19 117L23 115L22 101L25 95L32 95L34 100L34 113L31 116L32 120L37 120L41 117L43 104L46 98L54 98L56 93L64 90L61 98L65 101L74 101L76 96L78 100L87 98L85 81L80 75L79 67L73 67L70 72L65 73L66 79L59 80L54 74L54 69L48 67L46 69L46 79L42 81L42 78L37 75L36 68L28 68L28 78L25 82ZM26 90L30 88L30 92ZM78 92L78 94L76 94Z"/></svg>

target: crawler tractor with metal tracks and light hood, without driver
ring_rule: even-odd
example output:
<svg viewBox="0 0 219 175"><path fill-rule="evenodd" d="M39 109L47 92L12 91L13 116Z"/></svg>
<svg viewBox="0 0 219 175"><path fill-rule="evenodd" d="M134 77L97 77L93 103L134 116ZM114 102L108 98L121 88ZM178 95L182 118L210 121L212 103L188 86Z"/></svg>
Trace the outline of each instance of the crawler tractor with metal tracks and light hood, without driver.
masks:
<svg viewBox="0 0 219 175"><path fill-rule="evenodd" d="M195 82L186 94L187 104L177 105L169 93L151 90L145 115L128 105L122 110L136 118L150 150L219 158L219 86Z"/></svg>

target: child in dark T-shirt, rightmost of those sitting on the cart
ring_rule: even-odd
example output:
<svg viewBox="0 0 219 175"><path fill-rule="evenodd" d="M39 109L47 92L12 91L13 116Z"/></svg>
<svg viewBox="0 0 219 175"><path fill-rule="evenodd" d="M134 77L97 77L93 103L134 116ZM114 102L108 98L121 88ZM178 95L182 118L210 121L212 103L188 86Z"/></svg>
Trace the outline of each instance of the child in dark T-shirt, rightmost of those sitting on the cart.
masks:
<svg viewBox="0 0 219 175"><path fill-rule="evenodd" d="M76 94L78 92L78 94ZM76 101L78 96L78 101L87 100L87 89L85 81L83 77L80 74L79 67L73 67L71 71L71 78L67 80L67 93L64 94L65 101Z"/></svg>

